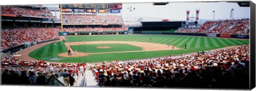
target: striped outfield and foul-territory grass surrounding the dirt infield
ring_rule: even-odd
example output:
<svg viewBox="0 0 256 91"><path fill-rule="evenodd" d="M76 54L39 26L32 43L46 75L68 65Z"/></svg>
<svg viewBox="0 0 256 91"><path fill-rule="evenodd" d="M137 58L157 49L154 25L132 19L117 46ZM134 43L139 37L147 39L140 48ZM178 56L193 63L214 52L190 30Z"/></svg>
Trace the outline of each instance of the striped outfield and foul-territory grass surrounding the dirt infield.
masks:
<svg viewBox="0 0 256 91"><path fill-rule="evenodd" d="M143 58L150 58L150 57L166 56L170 54L178 55L178 54L184 54L184 53L206 51L210 49L222 48L222 47L233 46L233 45L249 44L249 40L212 38L212 37L195 37L195 36L175 36L175 35L113 35L113 36L107 35L107 36L67 36L66 37L67 42L83 42L83 40L85 40L86 42L111 41L114 39L116 41L149 42L149 38L152 39L151 41L152 43L166 44L166 45L170 43L171 45L179 47L180 49L175 51L108 53L108 54L93 54L93 55L88 55L83 57L60 57L61 58L60 62L86 62L86 61L102 62L102 61L113 61L113 60L143 59ZM58 47L55 48L57 45ZM57 42L57 45L55 45L55 47L52 44L46 45L30 53L29 56L35 59L45 60L44 57L49 57L49 56L59 57L58 56L59 53L67 52L67 49L65 45L63 45L63 42ZM185 49L185 45L187 45L187 49ZM59 48L59 46L62 46L62 47ZM91 51L93 51L93 49ZM119 50L119 51L122 51L122 50Z"/></svg>

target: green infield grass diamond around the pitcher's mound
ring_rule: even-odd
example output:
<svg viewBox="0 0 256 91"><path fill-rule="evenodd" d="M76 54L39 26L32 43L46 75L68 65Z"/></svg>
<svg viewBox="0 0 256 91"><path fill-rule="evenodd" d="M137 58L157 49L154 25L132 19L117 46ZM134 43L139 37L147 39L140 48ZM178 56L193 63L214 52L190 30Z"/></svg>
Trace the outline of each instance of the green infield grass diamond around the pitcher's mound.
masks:
<svg viewBox="0 0 256 91"><path fill-rule="evenodd" d="M76 45L76 46L70 46L70 47L73 50L76 50L77 52L85 52L85 53L142 51L141 47L133 46L129 44L104 44L104 46L109 46L110 48L97 48L101 46L102 44L88 44L88 45Z"/></svg>

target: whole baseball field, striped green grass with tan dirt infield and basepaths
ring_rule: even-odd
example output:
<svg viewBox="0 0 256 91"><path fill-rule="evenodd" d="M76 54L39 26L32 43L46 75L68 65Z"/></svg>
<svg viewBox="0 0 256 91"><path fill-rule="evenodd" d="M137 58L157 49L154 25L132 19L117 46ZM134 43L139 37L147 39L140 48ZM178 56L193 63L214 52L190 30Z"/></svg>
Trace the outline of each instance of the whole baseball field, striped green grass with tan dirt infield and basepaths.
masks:
<svg viewBox="0 0 256 91"><path fill-rule="evenodd" d="M61 40L36 49L29 53L29 57L54 62L102 62L178 55L249 44L249 40L241 39L175 35L66 36L65 38L65 42ZM187 45L186 49L185 45ZM68 55L68 49L73 52L72 55Z"/></svg>

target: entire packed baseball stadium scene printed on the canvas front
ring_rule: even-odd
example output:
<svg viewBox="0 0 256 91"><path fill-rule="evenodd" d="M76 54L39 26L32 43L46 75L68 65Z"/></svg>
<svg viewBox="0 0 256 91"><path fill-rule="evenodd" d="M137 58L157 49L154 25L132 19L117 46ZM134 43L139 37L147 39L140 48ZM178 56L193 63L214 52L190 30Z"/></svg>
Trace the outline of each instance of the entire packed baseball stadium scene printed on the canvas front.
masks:
<svg viewBox="0 0 256 91"><path fill-rule="evenodd" d="M1 22L3 85L249 88L239 3L1 6Z"/></svg>

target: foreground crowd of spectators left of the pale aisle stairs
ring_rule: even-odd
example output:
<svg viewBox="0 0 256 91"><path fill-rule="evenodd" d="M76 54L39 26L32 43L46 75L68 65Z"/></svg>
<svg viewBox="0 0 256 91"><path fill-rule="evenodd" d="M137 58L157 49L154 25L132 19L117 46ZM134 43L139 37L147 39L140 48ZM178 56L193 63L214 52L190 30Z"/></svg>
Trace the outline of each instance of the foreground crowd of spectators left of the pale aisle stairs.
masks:
<svg viewBox="0 0 256 91"><path fill-rule="evenodd" d="M11 56L1 57L2 84L47 85L50 77L61 77L68 72L69 83L73 86L81 69L86 63L50 63L43 60L24 61ZM73 79L73 80L72 80Z"/></svg>

